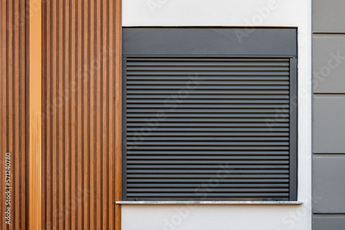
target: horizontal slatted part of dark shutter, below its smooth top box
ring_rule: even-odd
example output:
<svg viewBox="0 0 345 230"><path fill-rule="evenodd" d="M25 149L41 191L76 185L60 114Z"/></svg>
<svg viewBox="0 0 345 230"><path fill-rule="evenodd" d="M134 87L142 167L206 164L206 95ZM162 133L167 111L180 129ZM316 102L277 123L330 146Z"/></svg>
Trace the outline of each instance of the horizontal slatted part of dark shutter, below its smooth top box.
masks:
<svg viewBox="0 0 345 230"><path fill-rule="evenodd" d="M289 200L290 59L124 59L124 200Z"/></svg>

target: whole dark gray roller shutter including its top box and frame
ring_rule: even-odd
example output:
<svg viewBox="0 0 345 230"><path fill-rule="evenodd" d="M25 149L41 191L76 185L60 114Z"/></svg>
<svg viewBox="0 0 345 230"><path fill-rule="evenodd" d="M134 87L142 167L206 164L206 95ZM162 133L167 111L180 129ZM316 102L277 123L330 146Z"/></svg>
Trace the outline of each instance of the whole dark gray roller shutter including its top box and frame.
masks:
<svg viewBox="0 0 345 230"><path fill-rule="evenodd" d="M123 29L123 200L297 200L297 30Z"/></svg>

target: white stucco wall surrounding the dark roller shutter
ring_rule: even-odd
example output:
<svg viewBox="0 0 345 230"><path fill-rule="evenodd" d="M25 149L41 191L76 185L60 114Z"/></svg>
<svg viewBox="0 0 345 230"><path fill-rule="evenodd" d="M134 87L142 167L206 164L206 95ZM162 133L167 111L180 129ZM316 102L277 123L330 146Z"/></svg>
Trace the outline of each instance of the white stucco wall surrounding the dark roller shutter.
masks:
<svg viewBox="0 0 345 230"><path fill-rule="evenodd" d="M298 200L305 204L122 205L122 229L311 229L311 1L123 0L123 25L297 27Z"/></svg>

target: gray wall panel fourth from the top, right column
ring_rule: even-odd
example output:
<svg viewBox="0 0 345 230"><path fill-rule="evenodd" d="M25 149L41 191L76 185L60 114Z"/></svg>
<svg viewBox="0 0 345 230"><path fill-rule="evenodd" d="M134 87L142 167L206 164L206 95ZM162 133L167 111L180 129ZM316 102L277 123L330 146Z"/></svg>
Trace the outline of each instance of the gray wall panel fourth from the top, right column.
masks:
<svg viewBox="0 0 345 230"><path fill-rule="evenodd" d="M345 155L314 155L313 212L345 213Z"/></svg>

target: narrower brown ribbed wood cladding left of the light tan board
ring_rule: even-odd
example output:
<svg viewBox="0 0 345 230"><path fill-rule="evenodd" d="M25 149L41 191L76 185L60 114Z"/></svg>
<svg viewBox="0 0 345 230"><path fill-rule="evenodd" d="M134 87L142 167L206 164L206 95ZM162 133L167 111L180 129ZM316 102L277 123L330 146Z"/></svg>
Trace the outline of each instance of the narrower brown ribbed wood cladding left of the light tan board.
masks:
<svg viewBox="0 0 345 230"><path fill-rule="evenodd" d="M0 229L28 229L28 6L28 0L0 3ZM5 222L7 152L11 157L10 225Z"/></svg>

